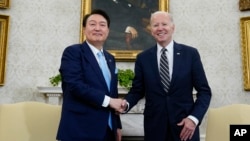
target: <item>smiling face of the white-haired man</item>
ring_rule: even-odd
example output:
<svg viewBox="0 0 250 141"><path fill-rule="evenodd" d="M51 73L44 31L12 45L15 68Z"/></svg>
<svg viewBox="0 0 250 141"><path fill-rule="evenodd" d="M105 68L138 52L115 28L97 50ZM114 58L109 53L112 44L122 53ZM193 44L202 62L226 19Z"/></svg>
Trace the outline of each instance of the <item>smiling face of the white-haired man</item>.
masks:
<svg viewBox="0 0 250 141"><path fill-rule="evenodd" d="M167 46L172 40L174 23L171 16L166 12L155 12L150 19L151 34L162 46Z"/></svg>

